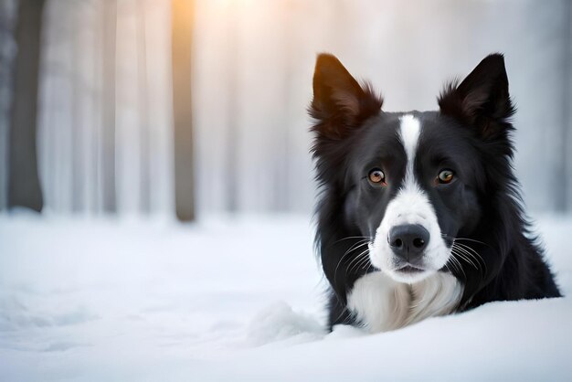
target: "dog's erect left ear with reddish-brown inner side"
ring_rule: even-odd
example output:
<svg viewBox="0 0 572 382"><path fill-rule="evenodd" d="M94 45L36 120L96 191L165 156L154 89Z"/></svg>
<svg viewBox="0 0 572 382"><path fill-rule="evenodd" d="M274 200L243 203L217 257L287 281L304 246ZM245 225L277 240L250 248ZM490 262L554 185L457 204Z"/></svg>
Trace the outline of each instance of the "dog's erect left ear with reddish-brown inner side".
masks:
<svg viewBox="0 0 572 382"><path fill-rule="evenodd" d="M381 109L381 97L352 77L330 54L321 54L313 73L310 114L317 120L313 130L331 139L343 138Z"/></svg>

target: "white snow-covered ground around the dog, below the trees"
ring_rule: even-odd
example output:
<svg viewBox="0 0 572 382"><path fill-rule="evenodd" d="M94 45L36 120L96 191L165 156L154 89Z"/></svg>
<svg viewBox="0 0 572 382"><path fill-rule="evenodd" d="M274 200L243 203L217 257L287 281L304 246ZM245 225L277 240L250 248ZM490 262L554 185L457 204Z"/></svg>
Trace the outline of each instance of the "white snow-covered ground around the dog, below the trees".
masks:
<svg viewBox="0 0 572 382"><path fill-rule="evenodd" d="M540 227L572 293L572 218ZM322 330L307 217L0 216L0 380L570 380L572 299Z"/></svg>

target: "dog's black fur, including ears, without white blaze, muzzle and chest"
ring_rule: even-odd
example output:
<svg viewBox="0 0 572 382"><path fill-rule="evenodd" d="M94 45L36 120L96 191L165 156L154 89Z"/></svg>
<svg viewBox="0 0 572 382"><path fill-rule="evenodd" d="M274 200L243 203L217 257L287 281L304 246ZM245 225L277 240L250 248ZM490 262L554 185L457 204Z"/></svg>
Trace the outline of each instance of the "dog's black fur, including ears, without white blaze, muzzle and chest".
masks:
<svg viewBox="0 0 572 382"><path fill-rule="evenodd" d="M514 176L514 106L503 56L484 58L465 80L448 84L438 101L439 111L410 112L424 126L416 175L429 176L423 189L441 232L450 239L464 238L464 245L481 255L478 267L461 260L462 269L440 270L450 271L464 285L456 311L485 302L560 296L530 232ZM374 237L400 186L396 182L376 189L364 180L364 171L379 163L396 179L405 171L403 149L395 140L397 118L403 113L382 111L382 103L381 96L368 84L360 85L337 58L318 57L309 111L315 119L312 152L321 186L316 246L332 287L330 329L355 324L346 307L347 293L373 267L365 263L350 271L360 252L352 247ZM460 179L449 187L434 186L428 174L438 169L436 161L454 166Z"/></svg>

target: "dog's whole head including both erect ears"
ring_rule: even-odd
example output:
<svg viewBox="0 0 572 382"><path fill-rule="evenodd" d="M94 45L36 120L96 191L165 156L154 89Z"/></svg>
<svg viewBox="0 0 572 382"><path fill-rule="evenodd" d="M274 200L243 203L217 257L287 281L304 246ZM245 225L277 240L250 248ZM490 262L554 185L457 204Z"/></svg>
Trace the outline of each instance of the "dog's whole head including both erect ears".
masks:
<svg viewBox="0 0 572 382"><path fill-rule="evenodd" d="M510 168L512 155L503 56L484 58L438 101L440 111L382 111L381 96L337 58L317 59L310 107L317 177L343 205L331 218L369 238L371 264L396 281L460 272L451 248L478 261L454 239L482 224L483 198L501 187L492 178L512 176L493 176Z"/></svg>

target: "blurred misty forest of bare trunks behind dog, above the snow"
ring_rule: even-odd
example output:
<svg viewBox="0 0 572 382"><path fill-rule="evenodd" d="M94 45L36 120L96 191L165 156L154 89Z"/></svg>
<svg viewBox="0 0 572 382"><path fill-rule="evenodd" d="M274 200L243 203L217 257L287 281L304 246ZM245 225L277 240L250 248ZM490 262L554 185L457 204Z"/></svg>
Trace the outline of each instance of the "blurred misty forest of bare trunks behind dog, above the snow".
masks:
<svg viewBox="0 0 572 382"><path fill-rule="evenodd" d="M306 107L322 51L389 111L435 109L446 80L503 52L527 205L572 208L566 0L183 3L188 15L168 1L3 0L0 209L173 216L179 185L198 215L309 213Z"/></svg>

